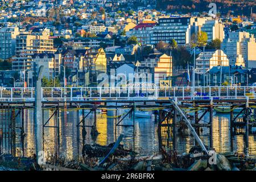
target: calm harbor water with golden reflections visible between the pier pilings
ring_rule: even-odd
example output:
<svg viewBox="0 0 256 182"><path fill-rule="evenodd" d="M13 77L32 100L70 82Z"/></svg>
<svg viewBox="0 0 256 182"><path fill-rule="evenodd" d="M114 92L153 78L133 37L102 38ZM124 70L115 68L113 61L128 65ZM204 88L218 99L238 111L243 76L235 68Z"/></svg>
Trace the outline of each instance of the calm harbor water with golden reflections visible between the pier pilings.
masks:
<svg viewBox="0 0 256 182"><path fill-rule="evenodd" d="M44 110L44 123L52 115L52 110ZM35 153L34 139L34 110L27 109L24 111L24 156L32 156ZM82 119L82 111L79 111L80 121ZM1 117L0 117L1 119ZM1 121L1 120L0 120ZM16 118L16 155L22 151L22 142L20 137L21 121ZM86 118L85 125L93 125L93 114ZM209 116L205 115L203 121L209 121ZM131 118L124 119L123 124L133 124ZM76 110L60 110L60 138L57 138L57 129L44 128L44 151L46 154L52 155L59 151L61 156L68 159L76 159L81 155L82 150L82 128L77 129L77 111ZM47 126L55 126L55 119L49 120ZM106 146L115 142L115 119L108 117L107 114L97 114L97 130L100 133L96 139L92 139L90 135L90 127L86 127L85 144L101 144ZM161 131L162 144L165 147L172 148L172 136L168 137L167 127L163 127ZM241 130L242 131L242 130ZM77 135L79 134L79 135ZM125 148L133 147L133 127L117 127L117 137L124 134L122 144ZM209 146L209 129L204 128L200 134L206 146ZM195 139L187 131L184 135L177 134L176 149L179 154L188 152L195 145ZM59 146L57 143L59 142ZM233 139L234 151L242 154L245 151L245 139L243 134L234 135ZM230 134L229 134L229 114L214 114L213 118L213 147L217 152L230 151ZM10 151L10 140L3 138L2 150ZM154 122L154 118L135 118L135 151L141 155L157 154L159 151L158 125ZM256 156L256 135L249 136L249 155Z"/></svg>

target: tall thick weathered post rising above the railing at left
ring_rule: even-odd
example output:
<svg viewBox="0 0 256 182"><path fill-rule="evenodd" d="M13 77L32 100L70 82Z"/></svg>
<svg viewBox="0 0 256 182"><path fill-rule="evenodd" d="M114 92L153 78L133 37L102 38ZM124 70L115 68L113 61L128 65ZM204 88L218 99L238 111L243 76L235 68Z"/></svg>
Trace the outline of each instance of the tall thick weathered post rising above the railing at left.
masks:
<svg viewBox="0 0 256 182"><path fill-rule="evenodd" d="M35 124L35 134L36 134L36 162L38 164L43 164L44 153L43 153L43 119L42 119L42 73L43 66L40 66L38 72L38 78L36 80L35 89L35 112L34 112L34 124Z"/></svg>

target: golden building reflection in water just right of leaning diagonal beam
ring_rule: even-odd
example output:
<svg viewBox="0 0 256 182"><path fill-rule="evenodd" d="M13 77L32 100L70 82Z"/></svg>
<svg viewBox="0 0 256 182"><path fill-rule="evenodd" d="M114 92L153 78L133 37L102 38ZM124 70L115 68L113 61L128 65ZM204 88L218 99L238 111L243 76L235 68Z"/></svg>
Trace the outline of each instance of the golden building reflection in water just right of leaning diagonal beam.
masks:
<svg viewBox="0 0 256 182"><path fill-rule="evenodd" d="M213 148L217 152L230 150L229 118L228 116L213 117Z"/></svg>

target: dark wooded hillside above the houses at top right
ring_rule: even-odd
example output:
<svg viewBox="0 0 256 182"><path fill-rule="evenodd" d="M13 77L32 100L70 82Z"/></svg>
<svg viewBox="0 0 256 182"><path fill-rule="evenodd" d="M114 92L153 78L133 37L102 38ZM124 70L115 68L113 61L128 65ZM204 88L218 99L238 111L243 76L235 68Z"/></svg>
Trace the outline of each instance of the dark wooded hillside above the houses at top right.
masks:
<svg viewBox="0 0 256 182"><path fill-rule="evenodd" d="M253 13L256 13L255 0L157 0L156 7L172 13L208 12L211 2L216 3L217 11L221 14L234 11L234 15L250 15L251 7L253 7Z"/></svg>

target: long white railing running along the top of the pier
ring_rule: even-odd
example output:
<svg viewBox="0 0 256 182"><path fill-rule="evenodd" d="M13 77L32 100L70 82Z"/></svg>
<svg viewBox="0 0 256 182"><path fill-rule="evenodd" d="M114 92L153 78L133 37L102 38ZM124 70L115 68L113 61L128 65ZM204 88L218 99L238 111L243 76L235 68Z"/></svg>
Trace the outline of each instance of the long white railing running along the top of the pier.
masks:
<svg viewBox="0 0 256 182"><path fill-rule="evenodd" d="M192 87L66 87L42 88L42 100L85 100L85 99L133 99L133 98L174 98L182 100L193 99L225 99L254 97L254 86L196 86ZM0 100L34 101L35 88L1 88Z"/></svg>

